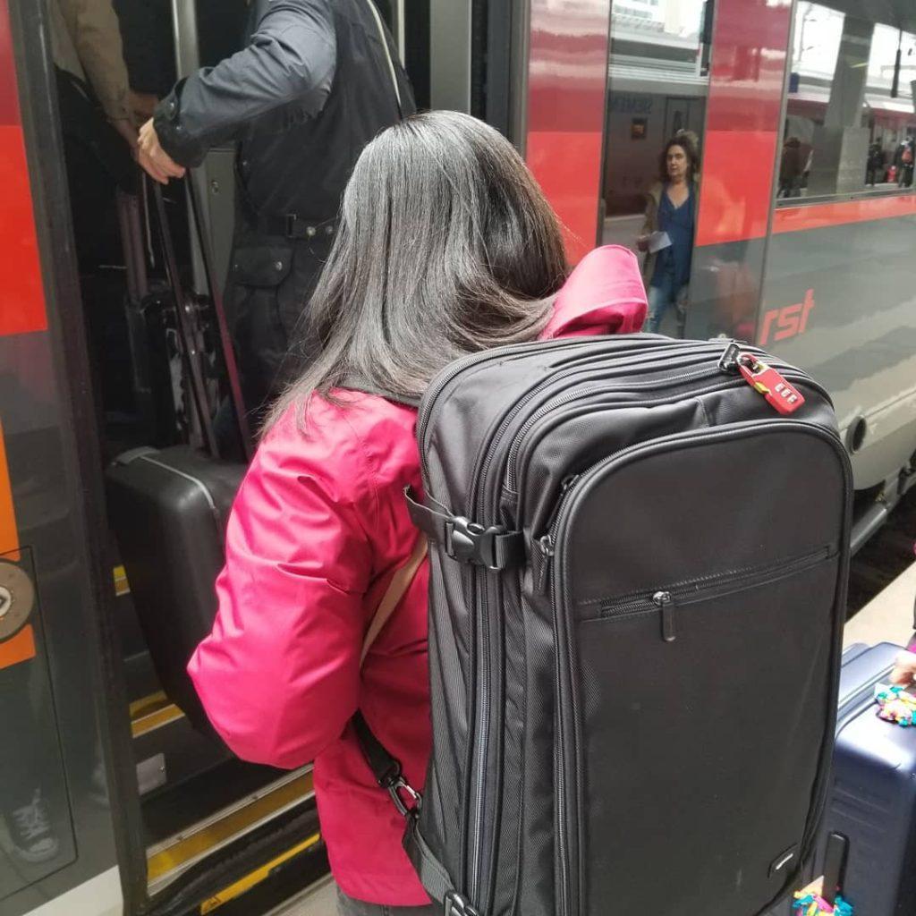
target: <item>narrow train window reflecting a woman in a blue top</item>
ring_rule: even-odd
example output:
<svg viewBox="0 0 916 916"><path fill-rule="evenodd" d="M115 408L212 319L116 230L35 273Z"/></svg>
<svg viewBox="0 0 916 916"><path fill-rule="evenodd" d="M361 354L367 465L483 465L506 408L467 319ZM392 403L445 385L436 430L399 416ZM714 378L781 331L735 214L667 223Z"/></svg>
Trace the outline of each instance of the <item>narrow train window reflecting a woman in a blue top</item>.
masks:
<svg viewBox="0 0 916 916"><path fill-rule="evenodd" d="M678 336L689 293L711 22L712 4L703 0L626 0L611 13L604 241L642 259L647 330ZM675 139L681 142L671 147Z"/></svg>

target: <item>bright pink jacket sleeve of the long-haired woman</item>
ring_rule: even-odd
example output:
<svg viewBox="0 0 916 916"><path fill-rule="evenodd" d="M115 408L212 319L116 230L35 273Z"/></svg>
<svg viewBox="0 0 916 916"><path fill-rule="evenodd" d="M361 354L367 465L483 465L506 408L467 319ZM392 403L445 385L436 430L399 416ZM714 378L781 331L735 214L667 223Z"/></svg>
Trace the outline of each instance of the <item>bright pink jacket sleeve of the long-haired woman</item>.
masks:
<svg viewBox="0 0 916 916"><path fill-rule="evenodd" d="M349 431L333 425L342 424ZM303 433L281 420L258 448L226 532L213 632L188 666L213 727L240 758L299 767L356 711L369 479L354 435L341 442L339 432ZM354 496L354 487L366 492Z"/></svg>

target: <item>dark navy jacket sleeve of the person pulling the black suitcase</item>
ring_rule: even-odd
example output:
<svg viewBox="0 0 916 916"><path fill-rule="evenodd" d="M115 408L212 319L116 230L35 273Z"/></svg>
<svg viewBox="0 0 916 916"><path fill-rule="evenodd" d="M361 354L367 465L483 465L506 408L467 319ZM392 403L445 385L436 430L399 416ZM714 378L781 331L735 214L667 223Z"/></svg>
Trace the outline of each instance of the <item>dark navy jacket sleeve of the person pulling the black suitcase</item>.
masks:
<svg viewBox="0 0 916 916"><path fill-rule="evenodd" d="M180 165L197 166L211 147L275 108L296 102L301 112L319 114L335 67L328 0L274 0L244 50L192 73L159 103L159 143Z"/></svg>

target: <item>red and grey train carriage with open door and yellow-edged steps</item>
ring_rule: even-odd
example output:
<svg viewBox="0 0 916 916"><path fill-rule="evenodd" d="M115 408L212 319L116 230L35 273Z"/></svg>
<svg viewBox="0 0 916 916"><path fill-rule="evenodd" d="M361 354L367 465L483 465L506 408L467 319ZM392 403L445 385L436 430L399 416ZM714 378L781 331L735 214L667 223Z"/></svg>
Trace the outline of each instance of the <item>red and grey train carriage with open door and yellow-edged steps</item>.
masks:
<svg viewBox="0 0 916 916"><path fill-rule="evenodd" d="M125 29L137 4L116 4ZM421 106L482 117L522 151L572 261L635 245L661 145L697 135L685 333L753 340L831 391L863 543L916 480L910 0L379 7ZM173 0L125 53L139 67L156 38L180 76L233 49L243 13ZM0 0L0 916L267 912L327 870L311 773L245 764L196 730L137 626L103 484L142 412L125 265L115 249L87 285L77 260L49 28L44 0ZM792 137L804 162L787 182ZM214 150L195 176L222 267L233 157ZM190 233L180 249L199 284ZM48 840L31 860L23 830Z"/></svg>

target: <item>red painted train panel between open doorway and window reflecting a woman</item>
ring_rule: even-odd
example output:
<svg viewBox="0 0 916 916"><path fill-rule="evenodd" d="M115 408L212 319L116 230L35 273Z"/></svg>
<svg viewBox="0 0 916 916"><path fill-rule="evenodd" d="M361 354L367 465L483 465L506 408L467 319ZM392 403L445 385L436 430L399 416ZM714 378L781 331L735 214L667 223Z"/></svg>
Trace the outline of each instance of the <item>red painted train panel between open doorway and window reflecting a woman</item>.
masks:
<svg viewBox="0 0 916 916"><path fill-rule="evenodd" d="M610 0L531 0L529 167L576 263L598 234Z"/></svg>

